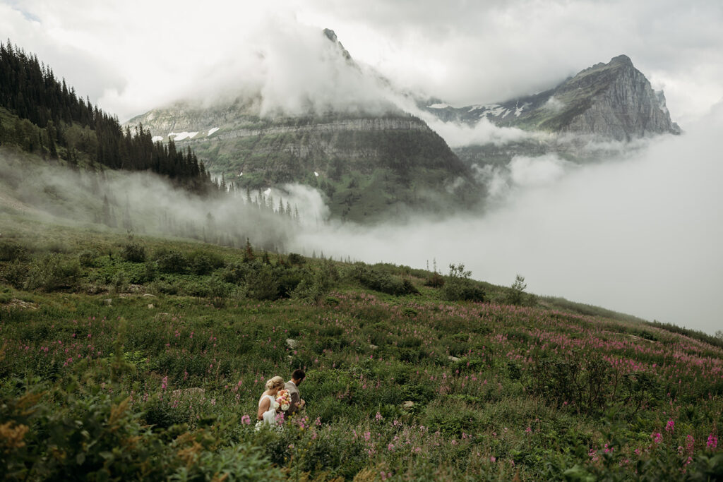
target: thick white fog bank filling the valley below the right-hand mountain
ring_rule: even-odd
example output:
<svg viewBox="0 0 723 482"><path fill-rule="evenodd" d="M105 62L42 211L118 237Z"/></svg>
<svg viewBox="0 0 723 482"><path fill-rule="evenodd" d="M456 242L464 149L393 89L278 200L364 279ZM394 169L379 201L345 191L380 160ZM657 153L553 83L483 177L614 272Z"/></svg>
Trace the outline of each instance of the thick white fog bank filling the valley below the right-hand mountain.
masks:
<svg viewBox="0 0 723 482"><path fill-rule="evenodd" d="M723 103L689 127L601 164L515 158L492 176L497 202L484 216L330 225L291 246L414 267L464 262L502 285L520 273L533 293L713 333L723 313Z"/></svg>

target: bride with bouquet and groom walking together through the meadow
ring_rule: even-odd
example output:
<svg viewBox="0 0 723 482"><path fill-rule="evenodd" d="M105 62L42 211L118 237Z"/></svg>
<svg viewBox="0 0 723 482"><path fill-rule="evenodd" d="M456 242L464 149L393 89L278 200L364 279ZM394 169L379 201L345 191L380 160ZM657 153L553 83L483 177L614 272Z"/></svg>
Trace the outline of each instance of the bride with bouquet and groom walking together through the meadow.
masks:
<svg viewBox="0 0 723 482"><path fill-rule="evenodd" d="M286 418L304 410L306 403L299 396L299 385L305 376L303 370L296 369L286 383L281 376L274 376L266 382L266 391L259 400L256 429L264 424L282 426Z"/></svg>

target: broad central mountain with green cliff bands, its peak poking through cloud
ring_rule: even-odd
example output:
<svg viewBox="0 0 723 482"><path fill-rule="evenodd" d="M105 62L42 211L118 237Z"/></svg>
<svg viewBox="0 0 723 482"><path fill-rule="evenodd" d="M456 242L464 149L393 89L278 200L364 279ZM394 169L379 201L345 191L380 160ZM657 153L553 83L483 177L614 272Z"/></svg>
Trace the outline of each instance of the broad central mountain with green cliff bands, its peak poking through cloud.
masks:
<svg viewBox="0 0 723 482"><path fill-rule="evenodd" d="M364 79L333 31L324 35L334 73L375 82ZM266 108L266 100L257 92L210 105L179 101L128 125L142 124L155 140L190 145L211 171L241 189L315 186L332 214L344 219L446 210L473 200L455 194L473 183L469 168L424 121L394 106L381 90L372 103L350 100L320 110L308 100L303 111L291 113Z"/></svg>

